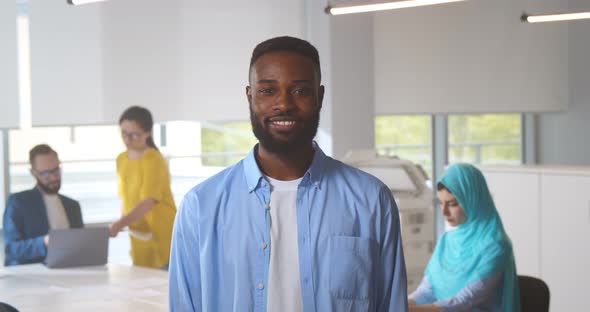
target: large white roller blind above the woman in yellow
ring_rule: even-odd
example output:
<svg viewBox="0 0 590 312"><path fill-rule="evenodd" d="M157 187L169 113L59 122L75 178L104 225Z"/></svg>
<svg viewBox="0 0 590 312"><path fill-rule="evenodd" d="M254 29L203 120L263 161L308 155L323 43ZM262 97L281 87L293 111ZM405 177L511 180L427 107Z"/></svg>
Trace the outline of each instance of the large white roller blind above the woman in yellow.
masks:
<svg viewBox="0 0 590 312"><path fill-rule="evenodd" d="M303 0L32 1L34 125L104 124L130 105L156 121L247 120L250 54L302 36Z"/></svg>

